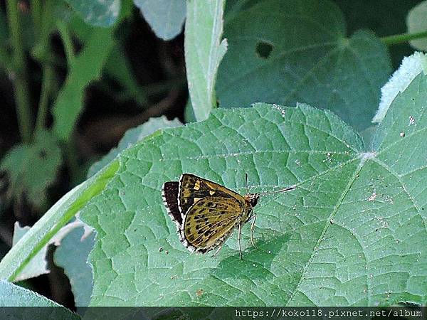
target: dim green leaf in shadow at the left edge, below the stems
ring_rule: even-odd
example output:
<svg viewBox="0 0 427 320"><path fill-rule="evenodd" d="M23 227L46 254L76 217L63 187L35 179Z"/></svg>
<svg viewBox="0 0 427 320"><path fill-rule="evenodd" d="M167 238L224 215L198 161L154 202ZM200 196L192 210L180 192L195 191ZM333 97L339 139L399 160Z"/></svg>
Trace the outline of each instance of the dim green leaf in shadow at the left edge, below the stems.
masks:
<svg viewBox="0 0 427 320"><path fill-rule="evenodd" d="M43 207L61 161L56 137L48 131L37 132L32 144L14 146L0 164L0 171L6 171L9 178L9 198L26 197L34 206Z"/></svg>

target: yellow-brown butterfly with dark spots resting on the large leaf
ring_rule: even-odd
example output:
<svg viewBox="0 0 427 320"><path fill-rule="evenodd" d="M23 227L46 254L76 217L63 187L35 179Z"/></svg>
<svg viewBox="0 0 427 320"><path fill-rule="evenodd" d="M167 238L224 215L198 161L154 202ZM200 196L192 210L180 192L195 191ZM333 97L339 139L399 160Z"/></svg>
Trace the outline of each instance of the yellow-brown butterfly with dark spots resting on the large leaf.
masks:
<svg viewBox="0 0 427 320"><path fill-rule="evenodd" d="M247 178L247 176L246 176ZM164 206L176 224L179 240L191 252L206 253L218 248L238 228L238 250L242 259L241 228L251 218L251 242L256 213L253 208L260 196L293 190L295 186L246 196L194 174L182 174L179 181L165 182L162 188Z"/></svg>

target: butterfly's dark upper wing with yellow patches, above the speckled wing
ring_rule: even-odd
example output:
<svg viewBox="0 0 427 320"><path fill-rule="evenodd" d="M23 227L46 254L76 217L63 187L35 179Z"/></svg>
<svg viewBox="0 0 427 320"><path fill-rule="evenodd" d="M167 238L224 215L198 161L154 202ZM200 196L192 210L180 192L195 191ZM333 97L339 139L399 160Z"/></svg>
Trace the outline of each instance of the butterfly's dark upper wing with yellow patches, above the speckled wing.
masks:
<svg viewBox="0 0 427 320"><path fill-rule="evenodd" d="M245 199L240 194L205 178L194 176L194 174L183 174L179 179L178 203L183 217L194 203L212 196L235 198L241 206L245 203Z"/></svg>

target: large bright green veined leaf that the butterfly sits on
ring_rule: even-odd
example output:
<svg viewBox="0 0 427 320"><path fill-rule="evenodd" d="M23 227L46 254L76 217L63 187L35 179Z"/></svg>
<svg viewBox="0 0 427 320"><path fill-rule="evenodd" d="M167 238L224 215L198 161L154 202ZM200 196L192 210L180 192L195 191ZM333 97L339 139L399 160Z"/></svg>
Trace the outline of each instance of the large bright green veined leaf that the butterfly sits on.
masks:
<svg viewBox="0 0 427 320"><path fill-rule="evenodd" d="M90 304L426 304L426 88L419 75L396 97L369 153L330 112L263 104L218 109L127 149L82 212L97 230ZM215 257L191 255L161 196L183 172L240 193L297 188L261 198L258 249L245 226L243 260L236 235Z"/></svg>

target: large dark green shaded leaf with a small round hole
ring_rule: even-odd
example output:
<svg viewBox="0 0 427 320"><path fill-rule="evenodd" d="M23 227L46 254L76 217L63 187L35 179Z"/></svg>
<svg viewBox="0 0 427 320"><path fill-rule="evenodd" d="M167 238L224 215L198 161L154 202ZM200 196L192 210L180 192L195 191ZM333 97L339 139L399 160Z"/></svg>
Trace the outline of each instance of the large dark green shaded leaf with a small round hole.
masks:
<svg viewBox="0 0 427 320"><path fill-rule="evenodd" d="M220 107L306 102L333 110L358 130L370 125L391 71L389 55L369 31L347 38L332 2L260 1L226 21Z"/></svg>

